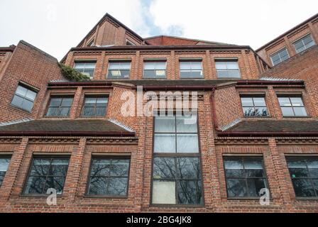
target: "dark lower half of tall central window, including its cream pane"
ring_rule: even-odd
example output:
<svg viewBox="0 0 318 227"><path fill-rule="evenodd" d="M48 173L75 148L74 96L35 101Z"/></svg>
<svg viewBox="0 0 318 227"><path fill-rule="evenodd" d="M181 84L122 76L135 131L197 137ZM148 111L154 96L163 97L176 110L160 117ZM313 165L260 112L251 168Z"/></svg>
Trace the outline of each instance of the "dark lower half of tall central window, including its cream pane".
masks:
<svg viewBox="0 0 318 227"><path fill-rule="evenodd" d="M153 204L202 204L199 157L154 157Z"/></svg>

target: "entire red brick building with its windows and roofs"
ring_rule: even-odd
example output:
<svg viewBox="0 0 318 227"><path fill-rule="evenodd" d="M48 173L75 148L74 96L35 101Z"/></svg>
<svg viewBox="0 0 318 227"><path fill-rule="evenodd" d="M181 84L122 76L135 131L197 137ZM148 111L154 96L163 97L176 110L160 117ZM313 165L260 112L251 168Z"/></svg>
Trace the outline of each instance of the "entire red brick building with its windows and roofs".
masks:
<svg viewBox="0 0 318 227"><path fill-rule="evenodd" d="M0 211L317 212L317 21L254 51L106 14L62 59L84 82L0 48Z"/></svg>

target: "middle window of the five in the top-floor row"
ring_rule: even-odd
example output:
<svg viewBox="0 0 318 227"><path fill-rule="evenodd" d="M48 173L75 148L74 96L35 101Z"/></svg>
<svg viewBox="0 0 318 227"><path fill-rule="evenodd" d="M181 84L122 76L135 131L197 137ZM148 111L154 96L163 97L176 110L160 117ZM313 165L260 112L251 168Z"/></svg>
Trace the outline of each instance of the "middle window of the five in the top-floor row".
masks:
<svg viewBox="0 0 318 227"><path fill-rule="evenodd" d="M165 61L143 62L143 78L165 78Z"/></svg>

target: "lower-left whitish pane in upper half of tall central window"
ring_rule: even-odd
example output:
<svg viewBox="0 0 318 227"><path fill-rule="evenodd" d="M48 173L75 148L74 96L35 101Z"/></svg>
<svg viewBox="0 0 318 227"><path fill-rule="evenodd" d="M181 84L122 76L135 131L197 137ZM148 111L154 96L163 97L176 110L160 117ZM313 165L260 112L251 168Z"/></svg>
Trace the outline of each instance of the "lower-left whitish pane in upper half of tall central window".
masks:
<svg viewBox="0 0 318 227"><path fill-rule="evenodd" d="M175 153L175 134L155 134L155 153Z"/></svg>

